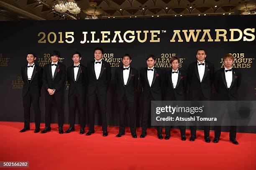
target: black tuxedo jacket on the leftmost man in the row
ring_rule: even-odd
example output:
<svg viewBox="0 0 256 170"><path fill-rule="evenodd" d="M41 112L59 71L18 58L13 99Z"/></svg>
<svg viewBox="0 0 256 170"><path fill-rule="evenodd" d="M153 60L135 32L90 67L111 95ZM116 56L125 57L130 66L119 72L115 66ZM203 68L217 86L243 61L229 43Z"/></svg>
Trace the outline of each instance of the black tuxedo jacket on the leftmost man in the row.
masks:
<svg viewBox="0 0 256 170"><path fill-rule="evenodd" d="M43 85L43 68L37 64L34 65L30 83L28 83L28 65L21 67L20 73L24 82L22 96L26 96L28 89L30 89L33 94L38 94L38 96L40 96L41 87Z"/></svg>

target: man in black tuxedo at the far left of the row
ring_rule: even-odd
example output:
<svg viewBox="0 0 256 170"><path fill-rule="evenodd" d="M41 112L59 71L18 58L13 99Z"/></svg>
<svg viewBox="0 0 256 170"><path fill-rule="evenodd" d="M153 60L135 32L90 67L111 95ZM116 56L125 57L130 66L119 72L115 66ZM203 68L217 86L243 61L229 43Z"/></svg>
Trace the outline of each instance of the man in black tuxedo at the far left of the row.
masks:
<svg viewBox="0 0 256 170"><path fill-rule="evenodd" d="M43 68L35 64L36 55L34 53L27 54L28 64L21 68L21 77L24 85L22 89L23 108L24 108L24 128L20 132L30 130L30 107L31 102L35 112L35 133L40 131L41 111L39 106L39 98L41 96L41 87L43 85Z"/></svg>

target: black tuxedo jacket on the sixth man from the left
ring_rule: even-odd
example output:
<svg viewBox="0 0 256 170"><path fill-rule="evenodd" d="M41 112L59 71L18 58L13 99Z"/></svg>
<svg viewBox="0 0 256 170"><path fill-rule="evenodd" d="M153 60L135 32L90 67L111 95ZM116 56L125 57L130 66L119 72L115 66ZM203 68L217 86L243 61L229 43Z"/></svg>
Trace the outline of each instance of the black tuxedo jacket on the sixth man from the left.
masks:
<svg viewBox="0 0 256 170"><path fill-rule="evenodd" d="M141 85L143 87L143 100L151 94L154 100L162 100L164 96L164 71L154 68L154 77L151 87L148 83L148 68L141 70Z"/></svg>

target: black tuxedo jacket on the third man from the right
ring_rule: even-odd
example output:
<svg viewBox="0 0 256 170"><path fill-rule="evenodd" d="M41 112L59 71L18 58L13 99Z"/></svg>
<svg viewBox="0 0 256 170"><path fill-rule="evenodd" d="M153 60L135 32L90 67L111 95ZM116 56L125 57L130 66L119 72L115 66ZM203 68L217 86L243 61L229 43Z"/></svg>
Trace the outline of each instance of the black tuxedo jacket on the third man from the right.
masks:
<svg viewBox="0 0 256 170"><path fill-rule="evenodd" d="M185 100L185 93L187 91L187 74L184 71L179 69L178 81L175 89L172 84L172 70L166 71L165 85L165 100L172 100L173 96L175 96L177 100Z"/></svg>

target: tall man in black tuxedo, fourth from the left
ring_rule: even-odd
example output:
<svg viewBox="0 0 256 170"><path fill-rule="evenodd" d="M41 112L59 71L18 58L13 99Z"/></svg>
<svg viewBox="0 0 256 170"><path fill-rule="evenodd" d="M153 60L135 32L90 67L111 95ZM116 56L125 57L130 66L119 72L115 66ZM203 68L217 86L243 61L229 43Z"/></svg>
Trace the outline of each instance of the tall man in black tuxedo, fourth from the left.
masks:
<svg viewBox="0 0 256 170"><path fill-rule="evenodd" d="M87 64L87 73L89 78L89 131L86 134L87 136L95 132L95 108L97 104L100 107L103 136L108 136L107 91L111 80L111 66L110 63L102 60L102 56L102 48L95 48L95 60Z"/></svg>

